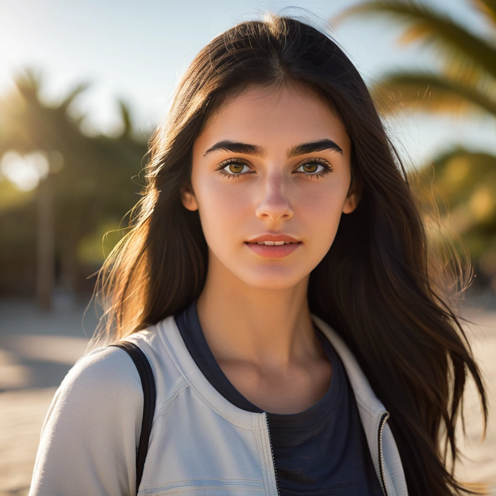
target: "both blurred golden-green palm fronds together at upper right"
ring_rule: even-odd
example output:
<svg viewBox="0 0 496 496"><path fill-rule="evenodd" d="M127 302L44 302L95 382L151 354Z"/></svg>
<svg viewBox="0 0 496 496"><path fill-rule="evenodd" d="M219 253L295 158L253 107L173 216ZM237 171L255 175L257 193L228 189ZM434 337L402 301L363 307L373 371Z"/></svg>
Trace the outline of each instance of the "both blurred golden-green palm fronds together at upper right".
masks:
<svg viewBox="0 0 496 496"><path fill-rule="evenodd" d="M473 0L496 27L496 1ZM334 21L352 16L379 15L405 25L404 44L420 41L440 56L439 74L396 71L386 74L372 88L385 112L412 108L430 112L459 113L478 109L496 117L496 45L493 40L455 22L426 2L372 0L346 9Z"/></svg>

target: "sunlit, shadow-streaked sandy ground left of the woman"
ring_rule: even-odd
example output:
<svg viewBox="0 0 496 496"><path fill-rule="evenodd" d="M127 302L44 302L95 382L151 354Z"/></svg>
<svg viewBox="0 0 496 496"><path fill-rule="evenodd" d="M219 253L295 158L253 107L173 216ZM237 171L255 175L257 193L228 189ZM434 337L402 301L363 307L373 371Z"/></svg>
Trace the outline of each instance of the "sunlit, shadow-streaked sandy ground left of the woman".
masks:
<svg viewBox="0 0 496 496"><path fill-rule="evenodd" d="M63 377L84 354L93 307L59 295L52 313L0 301L0 496L28 494L41 426Z"/></svg>

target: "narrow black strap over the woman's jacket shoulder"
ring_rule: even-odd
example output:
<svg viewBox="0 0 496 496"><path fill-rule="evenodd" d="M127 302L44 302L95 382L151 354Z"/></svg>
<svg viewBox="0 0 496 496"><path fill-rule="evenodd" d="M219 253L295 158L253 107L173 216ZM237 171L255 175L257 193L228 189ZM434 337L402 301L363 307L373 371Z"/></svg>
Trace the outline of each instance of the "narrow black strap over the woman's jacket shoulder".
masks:
<svg viewBox="0 0 496 496"><path fill-rule="evenodd" d="M119 341L109 346L117 346L128 353L138 370L141 386L143 387L143 420L141 421L141 434L136 451L136 494L138 494L141 477L143 476L146 452L148 451L150 432L152 430L153 415L155 413L155 379L148 359L134 343Z"/></svg>

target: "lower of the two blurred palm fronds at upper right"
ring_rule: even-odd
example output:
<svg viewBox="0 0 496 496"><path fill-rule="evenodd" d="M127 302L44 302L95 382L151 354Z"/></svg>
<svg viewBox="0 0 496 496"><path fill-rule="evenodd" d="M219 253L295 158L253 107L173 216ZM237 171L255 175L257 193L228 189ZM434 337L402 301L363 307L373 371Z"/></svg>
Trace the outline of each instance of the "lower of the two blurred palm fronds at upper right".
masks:
<svg viewBox="0 0 496 496"><path fill-rule="evenodd" d="M372 94L384 113L403 108L452 114L479 110L496 117L496 100L489 94L430 72L390 73L372 87Z"/></svg>

